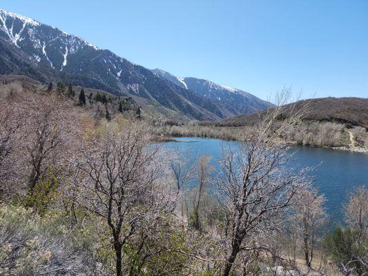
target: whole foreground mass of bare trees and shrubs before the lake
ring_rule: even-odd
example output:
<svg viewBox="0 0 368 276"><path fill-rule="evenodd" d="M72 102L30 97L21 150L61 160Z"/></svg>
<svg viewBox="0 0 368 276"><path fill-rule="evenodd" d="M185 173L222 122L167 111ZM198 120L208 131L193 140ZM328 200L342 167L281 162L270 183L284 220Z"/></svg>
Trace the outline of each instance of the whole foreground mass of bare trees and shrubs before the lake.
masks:
<svg viewBox="0 0 368 276"><path fill-rule="evenodd" d="M310 168L275 142L298 116L275 110L214 171L162 150L134 103L19 78L0 86L0 275L367 273L368 192L326 230Z"/></svg>

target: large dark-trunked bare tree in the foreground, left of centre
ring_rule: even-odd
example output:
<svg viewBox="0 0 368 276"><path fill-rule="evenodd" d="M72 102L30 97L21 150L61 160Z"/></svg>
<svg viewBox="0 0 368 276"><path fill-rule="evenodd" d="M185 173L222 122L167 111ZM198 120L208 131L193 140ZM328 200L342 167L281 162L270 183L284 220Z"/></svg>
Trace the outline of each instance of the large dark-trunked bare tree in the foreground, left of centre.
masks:
<svg viewBox="0 0 368 276"><path fill-rule="evenodd" d="M116 275L123 273L123 246L144 226L171 212L174 198L159 177L159 148L150 144L143 126L123 130L107 127L100 139L84 148L79 164L84 181L78 184L79 204L106 221L113 239Z"/></svg>

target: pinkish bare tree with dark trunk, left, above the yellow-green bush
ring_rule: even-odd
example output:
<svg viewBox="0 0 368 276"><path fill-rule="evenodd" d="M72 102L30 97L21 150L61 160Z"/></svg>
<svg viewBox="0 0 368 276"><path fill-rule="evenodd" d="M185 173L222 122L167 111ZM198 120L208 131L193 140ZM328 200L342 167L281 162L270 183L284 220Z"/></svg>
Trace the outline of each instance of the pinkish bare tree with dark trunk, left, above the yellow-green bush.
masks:
<svg viewBox="0 0 368 276"><path fill-rule="evenodd" d="M33 188L48 166L66 164L73 141L77 140L79 120L70 103L57 95L28 97L23 102L26 112L26 137L22 141L28 168L28 188Z"/></svg>

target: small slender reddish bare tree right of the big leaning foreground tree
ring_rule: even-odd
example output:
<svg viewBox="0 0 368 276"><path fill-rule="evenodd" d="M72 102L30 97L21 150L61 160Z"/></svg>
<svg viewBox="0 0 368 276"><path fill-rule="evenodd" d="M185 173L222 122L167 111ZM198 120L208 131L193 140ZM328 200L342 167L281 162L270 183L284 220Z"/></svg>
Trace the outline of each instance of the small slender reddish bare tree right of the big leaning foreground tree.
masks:
<svg viewBox="0 0 368 276"><path fill-rule="evenodd" d="M300 199L293 206L291 217L293 230L300 239L305 264L311 268L313 253L318 242L318 233L327 222L327 214L323 208L325 197L318 195L316 188L306 187Z"/></svg>

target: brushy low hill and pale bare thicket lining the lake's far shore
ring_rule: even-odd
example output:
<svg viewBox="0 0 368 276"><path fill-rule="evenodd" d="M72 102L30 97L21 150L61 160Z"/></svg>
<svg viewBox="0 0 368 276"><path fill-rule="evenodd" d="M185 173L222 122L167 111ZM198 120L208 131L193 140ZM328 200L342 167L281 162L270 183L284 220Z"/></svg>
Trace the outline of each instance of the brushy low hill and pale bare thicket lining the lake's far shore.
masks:
<svg viewBox="0 0 368 276"><path fill-rule="evenodd" d="M172 136L243 139L252 135L254 129L270 112L273 112L272 108L216 122L166 124L159 126L156 132ZM368 151L368 99L322 98L298 101L282 106L282 111L275 120L282 124L291 114L300 112L300 120L280 135L279 142Z"/></svg>

